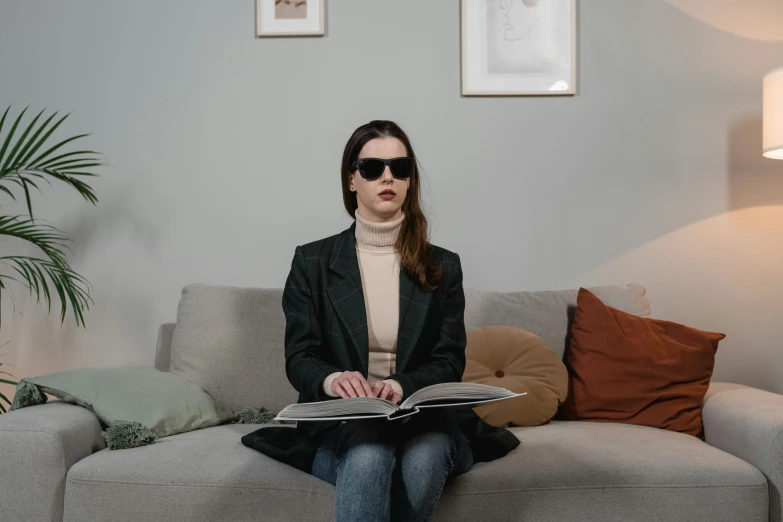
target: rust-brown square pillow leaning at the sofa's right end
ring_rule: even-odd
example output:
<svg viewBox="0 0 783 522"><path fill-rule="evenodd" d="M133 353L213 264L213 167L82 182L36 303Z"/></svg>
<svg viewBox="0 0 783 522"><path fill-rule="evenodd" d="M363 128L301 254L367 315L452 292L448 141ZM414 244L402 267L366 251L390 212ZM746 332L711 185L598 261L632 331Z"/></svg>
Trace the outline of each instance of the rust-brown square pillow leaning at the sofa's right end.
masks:
<svg viewBox="0 0 783 522"><path fill-rule="evenodd" d="M565 358L569 393L560 417L703 439L702 402L724 337L621 312L580 288Z"/></svg>

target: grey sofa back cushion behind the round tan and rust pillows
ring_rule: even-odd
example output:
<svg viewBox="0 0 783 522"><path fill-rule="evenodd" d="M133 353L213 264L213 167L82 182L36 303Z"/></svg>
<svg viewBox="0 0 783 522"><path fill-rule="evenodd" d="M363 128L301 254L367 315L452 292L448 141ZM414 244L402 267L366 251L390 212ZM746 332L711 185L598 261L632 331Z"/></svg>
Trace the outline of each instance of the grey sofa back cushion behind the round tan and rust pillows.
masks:
<svg viewBox="0 0 783 522"><path fill-rule="evenodd" d="M640 317L650 317L650 303L642 285L589 288L608 306ZM533 332L563 358L568 330L576 310L578 290L493 292L465 289L465 328L501 325Z"/></svg>

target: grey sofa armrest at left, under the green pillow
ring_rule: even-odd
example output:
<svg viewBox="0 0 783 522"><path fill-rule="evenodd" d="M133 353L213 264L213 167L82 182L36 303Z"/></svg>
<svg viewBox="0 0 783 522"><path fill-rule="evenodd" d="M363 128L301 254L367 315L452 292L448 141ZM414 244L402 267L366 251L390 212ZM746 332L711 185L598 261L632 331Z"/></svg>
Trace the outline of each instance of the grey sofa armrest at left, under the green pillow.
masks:
<svg viewBox="0 0 783 522"><path fill-rule="evenodd" d="M62 520L65 476L106 447L97 417L63 401L0 415L3 520Z"/></svg>

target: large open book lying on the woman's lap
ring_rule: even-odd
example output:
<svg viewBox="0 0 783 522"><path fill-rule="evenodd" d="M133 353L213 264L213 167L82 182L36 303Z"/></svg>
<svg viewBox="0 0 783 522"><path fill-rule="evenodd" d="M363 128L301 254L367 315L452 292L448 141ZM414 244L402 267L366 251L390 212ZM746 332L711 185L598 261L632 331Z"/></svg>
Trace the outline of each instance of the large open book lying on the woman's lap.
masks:
<svg viewBox="0 0 783 522"><path fill-rule="evenodd" d="M396 420L418 413L419 408L460 408L522 395L527 393L514 393L505 388L474 382L445 382L422 388L399 405L379 397L349 397L305 402L286 406L274 420L317 421L373 417Z"/></svg>

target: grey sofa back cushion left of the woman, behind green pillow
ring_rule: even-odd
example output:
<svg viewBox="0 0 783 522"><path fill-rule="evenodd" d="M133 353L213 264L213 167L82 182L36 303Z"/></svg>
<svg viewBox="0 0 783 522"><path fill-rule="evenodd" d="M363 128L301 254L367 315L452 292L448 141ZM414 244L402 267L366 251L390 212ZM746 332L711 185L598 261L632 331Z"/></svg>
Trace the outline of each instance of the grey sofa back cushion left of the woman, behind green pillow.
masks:
<svg viewBox="0 0 783 522"><path fill-rule="evenodd" d="M234 411L297 401L285 373L282 289L195 284L182 290L170 371Z"/></svg>

